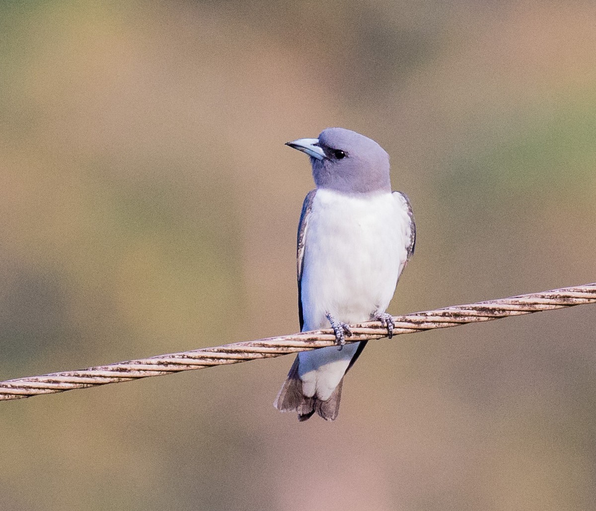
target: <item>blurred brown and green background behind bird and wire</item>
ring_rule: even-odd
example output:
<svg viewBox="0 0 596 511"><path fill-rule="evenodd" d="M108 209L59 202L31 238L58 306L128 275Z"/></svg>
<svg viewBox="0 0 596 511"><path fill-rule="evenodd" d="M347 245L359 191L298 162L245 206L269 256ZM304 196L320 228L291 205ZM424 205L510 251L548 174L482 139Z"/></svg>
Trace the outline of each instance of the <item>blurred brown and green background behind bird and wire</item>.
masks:
<svg viewBox="0 0 596 511"><path fill-rule="evenodd" d="M0 4L0 379L296 332L313 188L392 157L394 314L588 283L596 5ZM293 357L0 404L0 509L596 507L594 306L370 343L335 423Z"/></svg>

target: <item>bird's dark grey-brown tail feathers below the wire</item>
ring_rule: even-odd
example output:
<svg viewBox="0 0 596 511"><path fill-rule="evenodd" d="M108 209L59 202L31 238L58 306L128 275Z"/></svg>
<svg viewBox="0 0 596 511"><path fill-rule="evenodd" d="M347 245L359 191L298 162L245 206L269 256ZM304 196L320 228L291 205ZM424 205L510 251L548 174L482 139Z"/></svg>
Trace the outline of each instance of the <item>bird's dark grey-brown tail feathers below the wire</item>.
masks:
<svg viewBox="0 0 596 511"><path fill-rule="evenodd" d="M298 357L296 357L273 405L280 411L297 411L300 422L310 419L315 412L325 420L336 420L342 398L342 386L343 378L330 398L325 401L314 396L306 397L302 393L302 380L298 376Z"/></svg>

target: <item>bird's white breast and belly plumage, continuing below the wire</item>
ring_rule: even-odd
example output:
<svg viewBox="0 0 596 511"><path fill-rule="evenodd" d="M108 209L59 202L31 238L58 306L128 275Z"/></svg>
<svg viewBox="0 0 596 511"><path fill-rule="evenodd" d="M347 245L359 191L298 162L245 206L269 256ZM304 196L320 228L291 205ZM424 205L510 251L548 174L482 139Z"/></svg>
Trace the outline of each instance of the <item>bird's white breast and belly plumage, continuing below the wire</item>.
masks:
<svg viewBox="0 0 596 511"><path fill-rule="evenodd" d="M328 328L327 313L345 323L384 312L407 258L407 209L391 193L346 196L317 190L305 233L302 272L303 330ZM299 354L306 396L327 399L357 345Z"/></svg>

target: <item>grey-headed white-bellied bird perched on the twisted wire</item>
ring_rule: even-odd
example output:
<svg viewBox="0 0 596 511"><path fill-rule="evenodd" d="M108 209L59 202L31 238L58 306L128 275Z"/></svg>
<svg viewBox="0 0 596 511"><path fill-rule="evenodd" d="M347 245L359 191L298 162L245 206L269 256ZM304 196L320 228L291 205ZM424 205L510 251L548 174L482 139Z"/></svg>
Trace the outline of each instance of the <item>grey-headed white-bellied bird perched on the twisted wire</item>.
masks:
<svg viewBox="0 0 596 511"><path fill-rule="evenodd" d="M331 326L336 346L300 352L274 406L300 422L315 413L335 420L344 376L367 343L346 344L349 324L377 320L393 333L386 309L414 255L414 213L408 196L392 191L389 155L371 138L327 128L285 145L308 154L316 185L298 227L300 330Z"/></svg>

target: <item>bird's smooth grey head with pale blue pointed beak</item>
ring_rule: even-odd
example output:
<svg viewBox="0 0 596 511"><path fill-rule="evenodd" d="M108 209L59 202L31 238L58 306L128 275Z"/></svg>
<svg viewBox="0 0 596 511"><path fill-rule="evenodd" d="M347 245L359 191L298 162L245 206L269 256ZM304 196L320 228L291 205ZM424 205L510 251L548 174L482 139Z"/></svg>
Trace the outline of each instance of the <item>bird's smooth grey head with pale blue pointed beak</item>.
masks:
<svg viewBox="0 0 596 511"><path fill-rule="evenodd" d="M286 145L311 157L317 188L343 193L391 191L389 154L355 131L327 128L319 138L299 138Z"/></svg>

